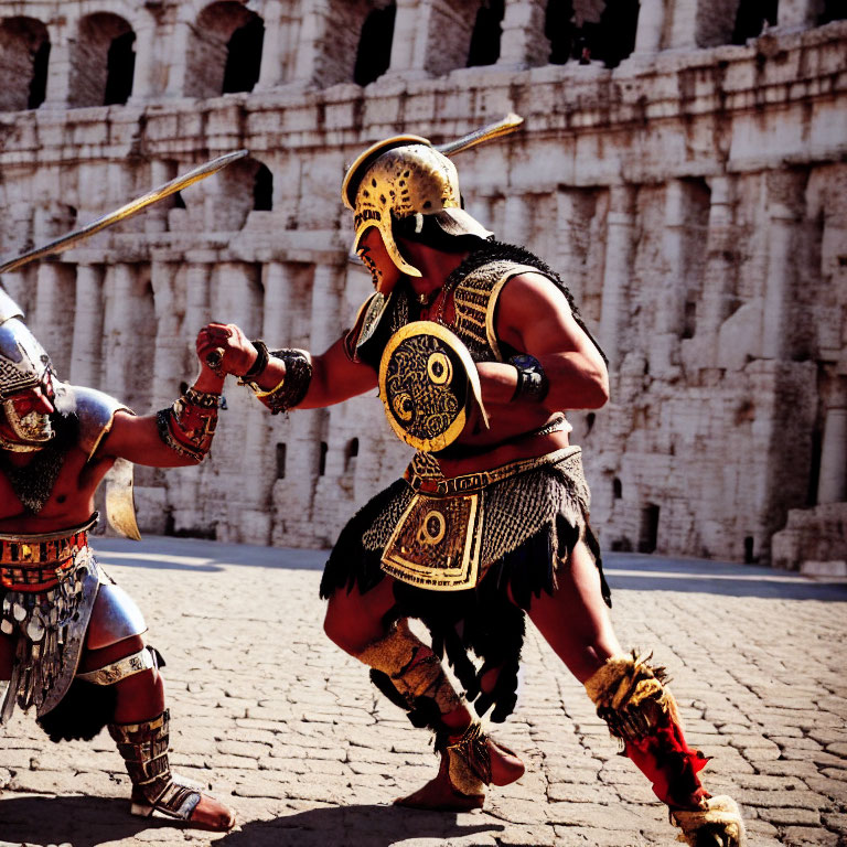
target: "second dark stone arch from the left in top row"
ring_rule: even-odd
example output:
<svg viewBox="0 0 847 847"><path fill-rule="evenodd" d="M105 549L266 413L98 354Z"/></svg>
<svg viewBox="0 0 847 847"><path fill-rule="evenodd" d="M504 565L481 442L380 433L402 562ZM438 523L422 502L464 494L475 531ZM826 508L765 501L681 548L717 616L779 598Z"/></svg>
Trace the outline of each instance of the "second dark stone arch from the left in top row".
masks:
<svg viewBox="0 0 847 847"><path fill-rule="evenodd" d="M71 56L71 108L125 104L129 99L135 41L132 26L111 12L94 12L79 21Z"/></svg>

